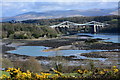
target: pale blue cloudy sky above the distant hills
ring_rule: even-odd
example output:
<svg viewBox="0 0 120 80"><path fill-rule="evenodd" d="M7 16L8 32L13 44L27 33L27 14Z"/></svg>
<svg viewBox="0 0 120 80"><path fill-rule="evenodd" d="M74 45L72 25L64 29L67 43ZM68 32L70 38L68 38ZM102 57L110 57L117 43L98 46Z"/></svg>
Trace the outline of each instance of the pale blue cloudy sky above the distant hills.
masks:
<svg viewBox="0 0 120 80"><path fill-rule="evenodd" d="M45 12L52 10L85 10L85 9L105 9L117 8L117 0L96 0L97 2L85 0L3 0L0 2L0 17L11 17L26 12Z"/></svg>

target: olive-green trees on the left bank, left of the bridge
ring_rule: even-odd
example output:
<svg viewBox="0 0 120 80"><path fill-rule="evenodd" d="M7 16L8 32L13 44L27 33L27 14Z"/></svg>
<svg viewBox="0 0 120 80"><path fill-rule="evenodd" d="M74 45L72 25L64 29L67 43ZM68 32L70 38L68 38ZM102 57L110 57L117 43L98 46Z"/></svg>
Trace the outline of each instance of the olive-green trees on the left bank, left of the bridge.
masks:
<svg viewBox="0 0 120 80"><path fill-rule="evenodd" d="M48 26L36 26L25 23L2 23L2 38L33 39L56 37L58 32Z"/></svg>

